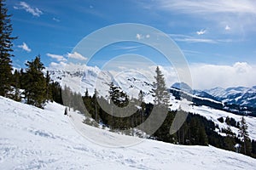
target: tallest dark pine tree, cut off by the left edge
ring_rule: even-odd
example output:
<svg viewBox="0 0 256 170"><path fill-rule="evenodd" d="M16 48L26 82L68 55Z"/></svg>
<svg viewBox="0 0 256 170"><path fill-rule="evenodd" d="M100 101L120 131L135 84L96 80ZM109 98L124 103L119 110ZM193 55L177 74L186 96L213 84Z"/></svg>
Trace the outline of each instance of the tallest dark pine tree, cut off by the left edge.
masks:
<svg viewBox="0 0 256 170"><path fill-rule="evenodd" d="M9 97L12 78L12 60L13 54L10 54L13 49L13 40L16 37L11 37L13 28L8 9L5 7L4 0L0 0L0 95Z"/></svg>

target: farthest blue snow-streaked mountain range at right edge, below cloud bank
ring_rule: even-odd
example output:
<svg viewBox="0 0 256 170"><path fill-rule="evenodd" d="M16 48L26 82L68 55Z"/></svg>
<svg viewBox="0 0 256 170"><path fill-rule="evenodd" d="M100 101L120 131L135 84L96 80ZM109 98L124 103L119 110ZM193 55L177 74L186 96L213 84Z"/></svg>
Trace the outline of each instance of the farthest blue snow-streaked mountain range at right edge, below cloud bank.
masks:
<svg viewBox="0 0 256 170"><path fill-rule="evenodd" d="M256 86L253 88L212 88L205 91L224 103L256 108Z"/></svg>

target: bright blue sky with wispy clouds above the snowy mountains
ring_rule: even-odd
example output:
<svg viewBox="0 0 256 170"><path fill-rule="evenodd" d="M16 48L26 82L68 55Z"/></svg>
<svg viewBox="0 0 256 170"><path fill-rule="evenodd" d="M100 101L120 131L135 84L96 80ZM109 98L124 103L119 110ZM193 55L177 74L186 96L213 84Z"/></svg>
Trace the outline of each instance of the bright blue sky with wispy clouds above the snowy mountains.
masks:
<svg viewBox="0 0 256 170"><path fill-rule="evenodd" d="M13 14L13 35L19 37L14 42L15 67L24 67L26 60L38 54L46 66L65 62L69 57L79 56L72 53L73 48L91 32L119 23L138 23L153 26L172 37L183 51L192 72L199 66L213 70L224 66L232 71L242 70L242 73L248 71L243 77L255 72L256 2L253 0L8 0L6 3L9 14ZM166 63L157 52L151 52L142 44L126 42L102 49L91 65L101 66L111 56L128 52L147 55L157 65ZM86 59L83 55L79 57ZM237 65L241 66L238 70ZM196 74L195 77L199 76ZM218 74L220 72L215 76ZM241 82L241 85L255 83L252 79ZM198 84L196 88L217 85L195 84ZM222 87L233 85L237 84L234 81L220 84Z"/></svg>

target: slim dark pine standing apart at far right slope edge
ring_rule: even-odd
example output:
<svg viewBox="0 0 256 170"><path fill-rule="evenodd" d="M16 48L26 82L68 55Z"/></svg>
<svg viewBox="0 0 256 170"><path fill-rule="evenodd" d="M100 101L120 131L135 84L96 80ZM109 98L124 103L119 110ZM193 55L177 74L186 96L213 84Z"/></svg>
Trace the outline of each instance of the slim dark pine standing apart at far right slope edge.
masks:
<svg viewBox="0 0 256 170"><path fill-rule="evenodd" d="M239 127L239 134L243 141L243 150L245 155L250 155L251 153L251 142L249 139L249 133L247 131L247 122L244 116L241 117L240 127Z"/></svg>

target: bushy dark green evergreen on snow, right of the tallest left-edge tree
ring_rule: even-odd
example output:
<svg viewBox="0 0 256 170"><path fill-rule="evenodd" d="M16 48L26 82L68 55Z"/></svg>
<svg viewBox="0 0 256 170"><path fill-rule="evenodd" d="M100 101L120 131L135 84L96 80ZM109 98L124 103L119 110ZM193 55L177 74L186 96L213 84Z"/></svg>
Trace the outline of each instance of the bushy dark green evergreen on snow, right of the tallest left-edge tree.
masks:
<svg viewBox="0 0 256 170"><path fill-rule="evenodd" d="M27 61L26 66L26 87L25 97L26 103L44 108L46 101L46 79L44 77L44 64L41 62L40 56L32 61Z"/></svg>

